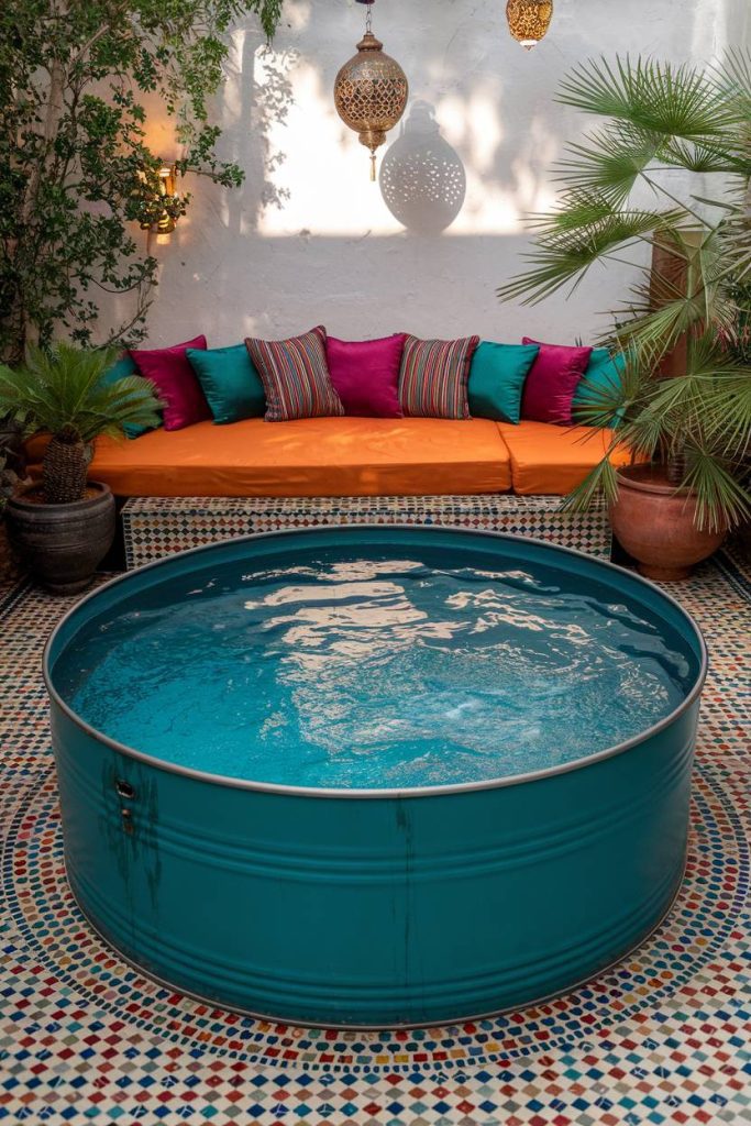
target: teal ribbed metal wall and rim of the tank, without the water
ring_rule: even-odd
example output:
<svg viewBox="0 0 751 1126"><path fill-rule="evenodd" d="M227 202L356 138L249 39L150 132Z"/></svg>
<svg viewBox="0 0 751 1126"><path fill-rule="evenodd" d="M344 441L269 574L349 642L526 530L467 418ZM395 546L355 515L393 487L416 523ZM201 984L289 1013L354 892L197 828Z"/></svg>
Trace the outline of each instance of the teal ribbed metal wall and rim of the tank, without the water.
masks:
<svg viewBox="0 0 751 1126"><path fill-rule="evenodd" d="M700 673L641 740L477 785L303 790L191 772L118 747L54 687L54 663L136 584L213 558L430 535L490 538L626 591L680 629ZM358 540L358 537L364 537ZM458 539L457 539L458 537ZM268 549L268 546L267 548ZM542 555L540 555L542 553ZM555 555L552 555L555 553ZM534 540L432 529L280 533L151 564L89 596L45 655L68 875L101 936L147 974L217 1004L314 1025L437 1024L558 993L620 958L680 885L706 655L656 588Z"/></svg>

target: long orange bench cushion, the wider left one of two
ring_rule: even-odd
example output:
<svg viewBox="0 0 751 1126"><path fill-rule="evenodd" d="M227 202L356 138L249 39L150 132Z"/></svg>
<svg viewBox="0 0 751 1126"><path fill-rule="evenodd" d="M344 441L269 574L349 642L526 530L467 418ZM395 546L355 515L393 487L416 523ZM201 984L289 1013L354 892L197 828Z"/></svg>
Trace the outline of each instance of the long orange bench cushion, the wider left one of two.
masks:
<svg viewBox="0 0 751 1126"><path fill-rule="evenodd" d="M35 443L32 454L39 456ZM120 497L429 497L504 492L509 453L488 419L245 419L100 438L89 468Z"/></svg>

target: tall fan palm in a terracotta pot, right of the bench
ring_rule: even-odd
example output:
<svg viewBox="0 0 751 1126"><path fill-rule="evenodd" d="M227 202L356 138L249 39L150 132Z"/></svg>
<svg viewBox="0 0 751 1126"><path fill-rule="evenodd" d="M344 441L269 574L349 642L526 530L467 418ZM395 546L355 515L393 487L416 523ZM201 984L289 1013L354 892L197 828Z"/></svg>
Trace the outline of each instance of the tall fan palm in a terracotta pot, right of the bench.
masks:
<svg viewBox="0 0 751 1126"><path fill-rule="evenodd" d="M751 56L706 71L590 62L560 100L605 123L569 148L530 268L499 294L530 304L596 262L634 270L604 341L625 354L625 373L590 388L583 418L616 427L613 440L566 504L605 493L643 573L683 578L751 513ZM682 198L676 170L681 185L697 179ZM618 443L633 465L616 472Z"/></svg>

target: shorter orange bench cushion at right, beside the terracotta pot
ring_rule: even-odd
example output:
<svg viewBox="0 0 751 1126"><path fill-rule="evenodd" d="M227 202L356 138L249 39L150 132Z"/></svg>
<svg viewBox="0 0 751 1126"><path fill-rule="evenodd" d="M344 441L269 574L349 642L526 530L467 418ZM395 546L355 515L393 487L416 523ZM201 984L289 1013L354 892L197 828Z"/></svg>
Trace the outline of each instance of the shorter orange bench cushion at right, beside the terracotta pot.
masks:
<svg viewBox="0 0 751 1126"><path fill-rule="evenodd" d="M565 497L600 462L613 439L611 430L552 426L549 422L497 422L511 455L511 486L525 497ZM631 461L620 446L614 465Z"/></svg>

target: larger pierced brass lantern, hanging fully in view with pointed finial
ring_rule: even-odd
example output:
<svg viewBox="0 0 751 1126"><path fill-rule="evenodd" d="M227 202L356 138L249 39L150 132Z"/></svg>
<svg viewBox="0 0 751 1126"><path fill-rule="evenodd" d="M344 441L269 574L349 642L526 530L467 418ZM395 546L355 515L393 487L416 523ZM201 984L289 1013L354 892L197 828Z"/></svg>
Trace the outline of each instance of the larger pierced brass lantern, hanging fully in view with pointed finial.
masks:
<svg viewBox="0 0 751 1126"><path fill-rule="evenodd" d="M372 5L374 0L359 0ZM333 97L342 122L359 135L370 150L370 179L375 180L376 149L386 142L386 133L400 120L406 106L409 83L395 60L384 54L383 43L370 30L370 8L365 37L357 54L345 63L334 82Z"/></svg>

